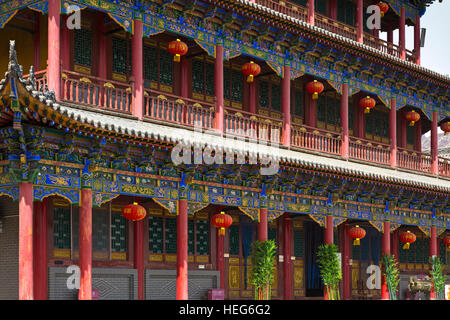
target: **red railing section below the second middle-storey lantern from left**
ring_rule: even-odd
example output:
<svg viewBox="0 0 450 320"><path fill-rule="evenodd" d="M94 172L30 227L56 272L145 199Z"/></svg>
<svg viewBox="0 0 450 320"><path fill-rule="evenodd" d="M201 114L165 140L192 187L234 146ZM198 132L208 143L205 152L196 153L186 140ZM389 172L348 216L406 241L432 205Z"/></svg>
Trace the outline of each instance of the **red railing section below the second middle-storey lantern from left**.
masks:
<svg viewBox="0 0 450 320"><path fill-rule="evenodd" d="M224 126L229 135L280 143L282 125L279 119L226 109Z"/></svg>

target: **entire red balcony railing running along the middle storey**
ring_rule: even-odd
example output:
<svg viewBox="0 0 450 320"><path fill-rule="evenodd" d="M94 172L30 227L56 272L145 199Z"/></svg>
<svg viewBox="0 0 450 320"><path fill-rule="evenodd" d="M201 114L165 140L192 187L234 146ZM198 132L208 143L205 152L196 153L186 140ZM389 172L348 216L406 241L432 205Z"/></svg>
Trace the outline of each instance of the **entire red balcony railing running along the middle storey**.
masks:
<svg viewBox="0 0 450 320"><path fill-rule="evenodd" d="M39 90L45 90L46 71L36 73ZM61 100L118 114L131 115L132 86L128 83L100 79L76 72L64 71L61 79ZM144 119L189 130L214 130L216 112L214 103L179 97L155 90L144 92ZM281 145L283 123L281 119L252 114L232 108L224 110L224 133L272 146ZM289 148L341 158L342 134L306 125L291 127ZM283 146L282 146L283 147ZM391 146L357 137L349 137L349 160L389 167ZM430 173L430 154L397 148L397 168ZM439 175L450 178L450 159L439 158Z"/></svg>

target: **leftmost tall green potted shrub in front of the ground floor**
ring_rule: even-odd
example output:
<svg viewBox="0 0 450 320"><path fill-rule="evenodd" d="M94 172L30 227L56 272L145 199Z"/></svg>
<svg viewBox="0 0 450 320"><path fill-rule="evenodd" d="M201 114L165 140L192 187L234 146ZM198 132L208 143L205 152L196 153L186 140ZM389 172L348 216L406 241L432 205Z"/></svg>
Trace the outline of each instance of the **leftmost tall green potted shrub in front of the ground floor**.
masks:
<svg viewBox="0 0 450 320"><path fill-rule="evenodd" d="M277 246L273 240L252 244L250 283L255 288L255 300L270 300L276 252Z"/></svg>

